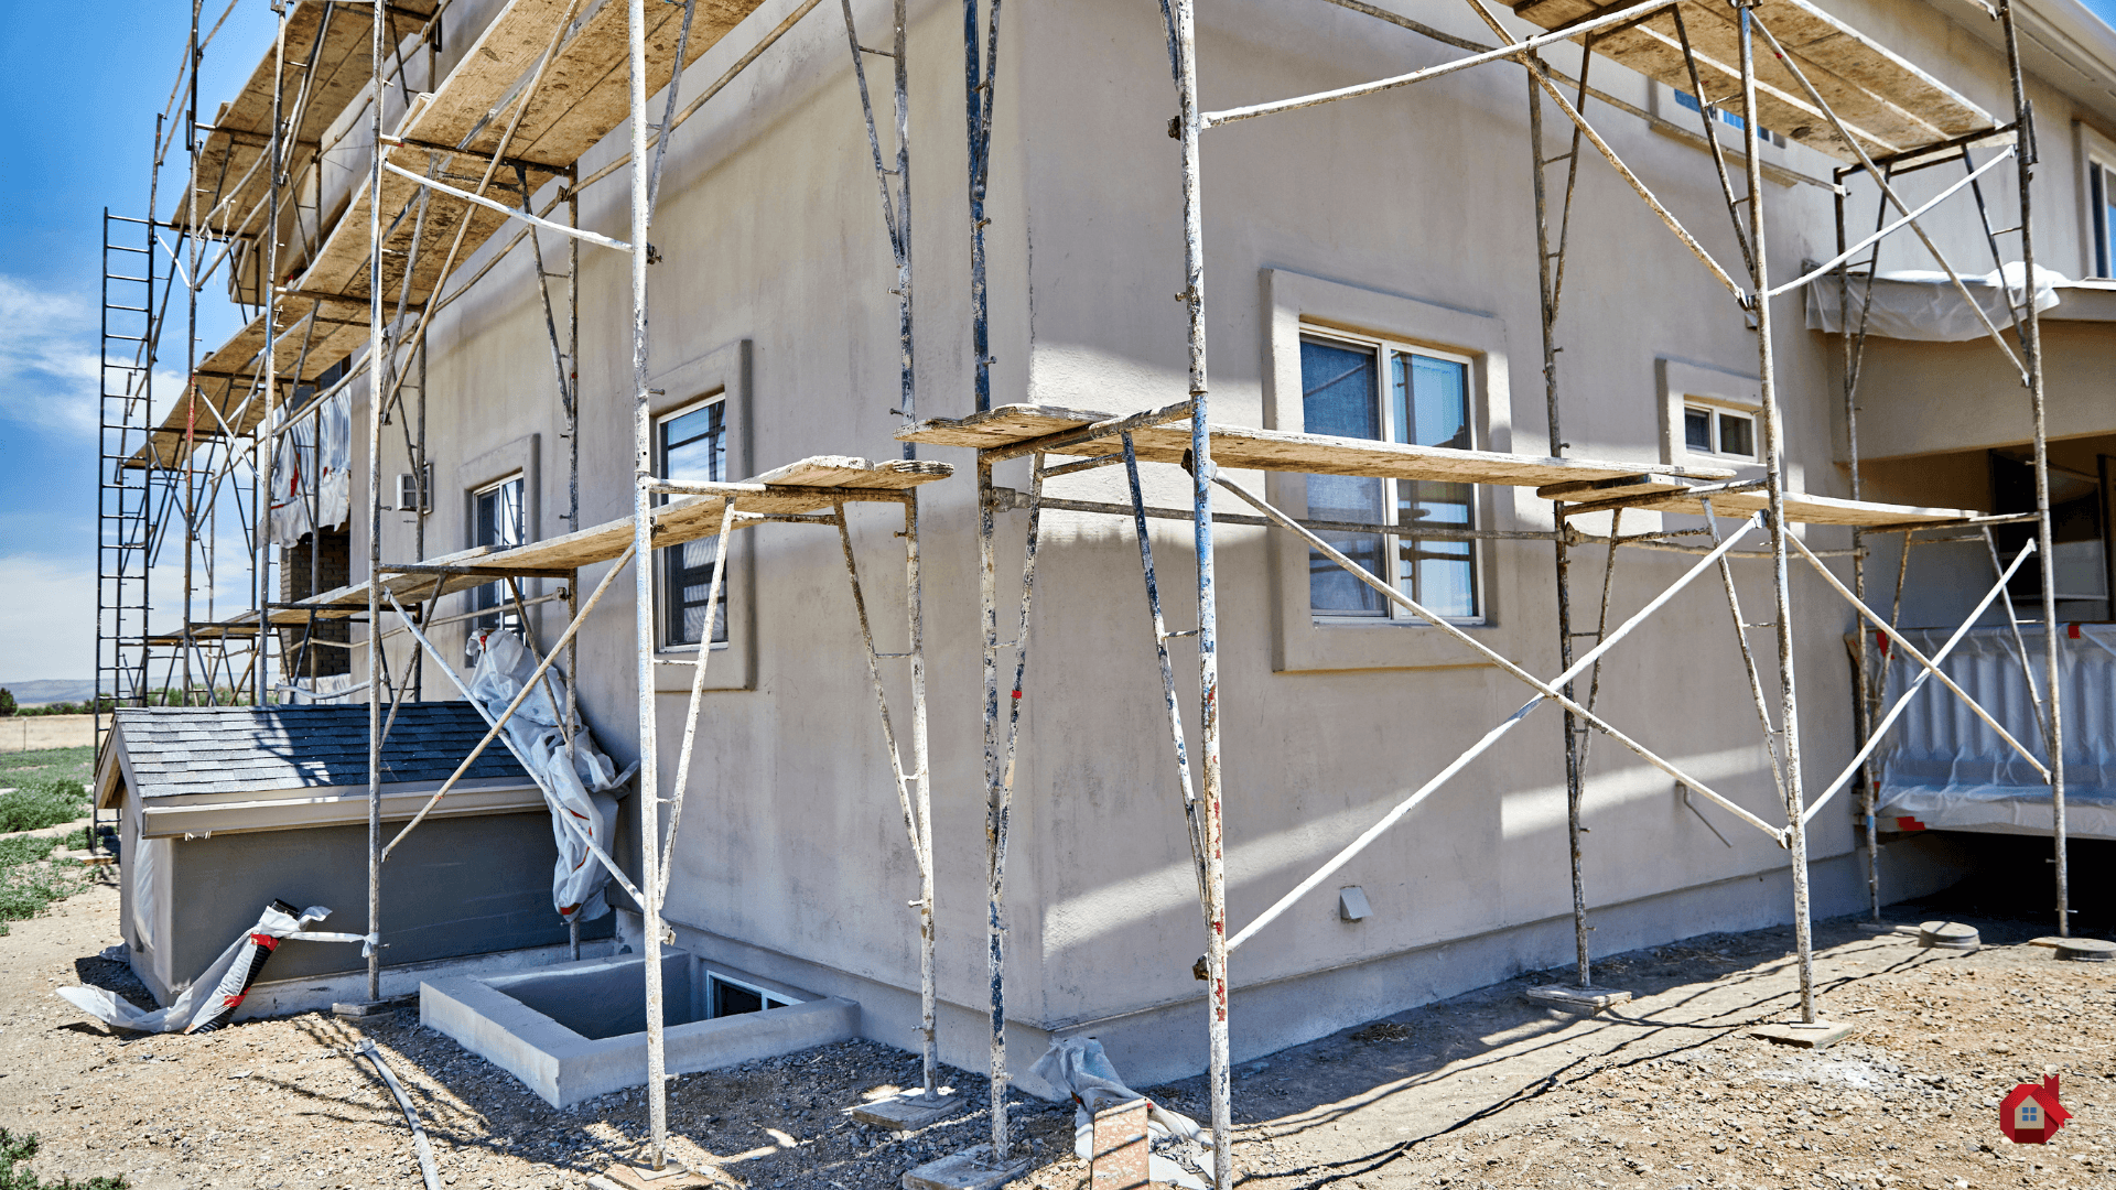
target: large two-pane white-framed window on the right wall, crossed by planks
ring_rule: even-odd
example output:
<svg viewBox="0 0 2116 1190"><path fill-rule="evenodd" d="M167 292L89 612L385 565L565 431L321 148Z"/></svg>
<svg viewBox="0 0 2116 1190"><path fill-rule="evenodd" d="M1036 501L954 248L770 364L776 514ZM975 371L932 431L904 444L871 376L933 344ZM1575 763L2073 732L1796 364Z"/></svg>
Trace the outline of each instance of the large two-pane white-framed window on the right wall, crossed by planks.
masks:
<svg viewBox="0 0 2116 1190"><path fill-rule="evenodd" d="M1380 339L1301 335L1301 417L1310 434L1471 449L1469 360ZM1433 612L1449 620L1483 618L1473 542L1409 531L1418 525L1475 527L1471 485L1312 474L1308 517L1399 527L1388 534L1320 536ZM1316 616L1416 623L1316 551L1308 555L1308 603Z"/></svg>

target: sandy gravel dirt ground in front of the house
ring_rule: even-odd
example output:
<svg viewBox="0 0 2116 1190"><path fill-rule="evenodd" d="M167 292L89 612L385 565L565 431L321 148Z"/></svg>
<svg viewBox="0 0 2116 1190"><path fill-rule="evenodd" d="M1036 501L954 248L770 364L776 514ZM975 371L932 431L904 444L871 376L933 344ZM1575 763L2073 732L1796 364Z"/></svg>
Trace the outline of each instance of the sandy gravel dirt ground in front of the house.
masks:
<svg viewBox="0 0 2116 1190"><path fill-rule="evenodd" d="M641 1152L637 1095L546 1107L415 1012L114 1038L51 995L91 980L142 997L118 963L95 957L116 940L114 917L106 879L0 942L0 1126L42 1137L47 1177L123 1173L144 1190L419 1186L404 1120L353 1052L362 1038L408 1086L449 1186L576 1188ZM1598 982L1636 999L1600 1018L1528 1004L1521 989L1538 978L1524 976L1244 1063L1242 1184L2116 1186L2116 963L2057 961L2027 944L2029 923L1970 921L1987 942L1970 955L1822 925L1824 1010L1860 1027L1826 1050L1746 1035L1796 1004L1790 932L1754 932L1602 961ZM2050 1146L2012 1146L1998 1099L2046 1071L2076 1118ZM842 1116L912 1082L916 1059L872 1042L683 1076L671 1097L675 1154L728 1186L895 1186L988 1126L982 1078L963 1071L950 1082L969 1103L925 1131L899 1137ZM1208 1114L1202 1080L1147 1090ZM1014 1118L1037 1158L1016 1186L1083 1190L1071 1112L1030 1101Z"/></svg>

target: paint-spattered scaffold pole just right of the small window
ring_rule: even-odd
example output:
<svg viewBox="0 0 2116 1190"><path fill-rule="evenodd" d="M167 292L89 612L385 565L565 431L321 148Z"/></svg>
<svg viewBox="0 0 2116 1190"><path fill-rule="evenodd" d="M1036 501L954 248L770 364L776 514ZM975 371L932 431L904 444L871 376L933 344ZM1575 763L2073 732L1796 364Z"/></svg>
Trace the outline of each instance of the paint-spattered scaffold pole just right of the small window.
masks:
<svg viewBox="0 0 2116 1190"><path fill-rule="evenodd" d="M1784 741L1786 849L1792 855L1792 934L1799 951L1801 1023L1816 1023L1813 923L1807 906L1807 822L1801 798L1801 699L1792 675L1792 570L1786 523L1786 419L1777 404L1777 360L1771 345L1771 265L1765 248L1763 152L1756 123L1756 0L1739 4L1741 138L1748 161L1750 313L1756 315L1756 394L1763 404L1765 491L1771 519L1771 595L1777 631L1777 733Z"/></svg>

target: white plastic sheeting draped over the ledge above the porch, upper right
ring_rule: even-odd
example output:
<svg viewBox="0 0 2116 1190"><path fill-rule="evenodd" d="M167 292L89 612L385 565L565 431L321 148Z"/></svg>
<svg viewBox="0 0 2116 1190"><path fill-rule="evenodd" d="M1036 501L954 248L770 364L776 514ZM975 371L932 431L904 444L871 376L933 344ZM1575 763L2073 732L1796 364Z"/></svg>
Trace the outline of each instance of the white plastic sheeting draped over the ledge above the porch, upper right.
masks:
<svg viewBox="0 0 2116 1190"><path fill-rule="evenodd" d="M2004 277L2004 284L2002 284ZM2012 305L2021 301L2027 271L2019 260L2004 269L1993 269L1981 277L1962 277L1976 307L1985 311L1991 326L2000 330L2012 326ZM2057 305L2057 288L2069 284L2061 273L2036 265L2036 309ZM1849 307L1839 309L1835 277L1822 277L1807 286L1807 328L1843 332L1841 322L1852 330L1860 328L1860 307L1866 303L1864 275L1852 275ZM1839 318L1845 315L1845 318ZM1962 343L1987 335L1976 309L1962 299L1962 290L1940 271L1907 269L1900 273L1879 273L1873 280L1873 309L1866 311L1866 335L1881 339L1919 339L1928 343Z"/></svg>

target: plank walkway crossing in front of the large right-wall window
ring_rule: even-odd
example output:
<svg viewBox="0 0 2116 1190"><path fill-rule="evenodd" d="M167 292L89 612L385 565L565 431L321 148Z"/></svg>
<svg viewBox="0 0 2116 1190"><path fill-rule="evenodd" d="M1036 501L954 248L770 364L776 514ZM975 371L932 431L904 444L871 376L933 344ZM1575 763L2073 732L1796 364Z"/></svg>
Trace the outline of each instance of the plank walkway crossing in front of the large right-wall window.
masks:
<svg viewBox="0 0 2116 1190"><path fill-rule="evenodd" d="M1018 447L1035 438L1064 434L1115 413L1060 409L1052 404L1005 404L971 417L920 421L897 434L910 443L937 447L997 449ZM1117 436L1069 445L1062 455L1107 455L1121 451ZM1181 464L1189 449L1189 426L1155 426L1132 432L1132 449L1145 462ZM1308 474L1358 474L1375 479L1435 479L1445 483L1498 483L1511 487L1543 487L1551 483L1589 483L1642 476L1638 485L1598 491L1617 493L1680 491L1676 479L1733 479L1722 468L1678 468L1667 464L1617 464L1600 459L1502 455L1496 451L1456 451L1447 447L1411 447L1371 438L1331 438L1325 434L1291 434L1284 430L1253 430L1246 426L1212 428L1212 462L1238 470L1295 470Z"/></svg>

